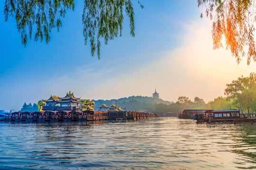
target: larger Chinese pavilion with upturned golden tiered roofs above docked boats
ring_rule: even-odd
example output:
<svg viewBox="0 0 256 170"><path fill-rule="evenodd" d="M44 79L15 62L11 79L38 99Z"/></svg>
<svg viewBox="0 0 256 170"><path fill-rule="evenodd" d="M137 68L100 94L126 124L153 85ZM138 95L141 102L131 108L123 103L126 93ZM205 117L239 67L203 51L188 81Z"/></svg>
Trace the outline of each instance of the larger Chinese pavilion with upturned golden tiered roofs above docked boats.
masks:
<svg viewBox="0 0 256 170"><path fill-rule="evenodd" d="M43 106L44 111L60 111L60 110L80 110L78 104L80 98L76 98L73 93L66 93L65 97L53 96L48 100L42 100L46 102L46 105Z"/></svg>

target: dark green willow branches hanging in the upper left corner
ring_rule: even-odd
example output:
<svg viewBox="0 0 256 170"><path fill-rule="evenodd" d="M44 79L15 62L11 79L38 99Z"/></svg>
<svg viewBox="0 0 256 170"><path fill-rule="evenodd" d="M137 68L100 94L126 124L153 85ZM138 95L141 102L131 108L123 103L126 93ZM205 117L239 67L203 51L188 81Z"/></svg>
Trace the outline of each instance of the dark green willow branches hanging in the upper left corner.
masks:
<svg viewBox="0 0 256 170"><path fill-rule="evenodd" d="M21 34L21 43L26 47L30 40L50 41L52 28L61 25L61 17L65 17L67 9L74 10L74 0L6 0L4 7L5 21L15 17L17 28Z"/></svg>

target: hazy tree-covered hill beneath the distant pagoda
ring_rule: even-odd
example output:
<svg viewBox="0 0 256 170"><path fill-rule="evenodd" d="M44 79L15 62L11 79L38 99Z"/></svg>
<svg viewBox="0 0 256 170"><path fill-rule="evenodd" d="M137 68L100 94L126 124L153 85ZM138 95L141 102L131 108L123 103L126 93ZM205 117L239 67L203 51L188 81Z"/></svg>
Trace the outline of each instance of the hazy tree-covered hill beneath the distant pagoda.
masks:
<svg viewBox="0 0 256 170"><path fill-rule="evenodd" d="M147 96L130 96L130 97L124 97L120 99L112 99L112 100L93 100L95 102L95 109L98 109L102 104L106 104L107 106L111 106L112 104L116 104L119 107L128 107L136 109L135 106L138 103L152 103L152 104L172 104L173 102L164 101L160 98L153 98L153 97L147 97ZM129 103L129 104L128 104ZM133 104L134 103L134 104Z"/></svg>

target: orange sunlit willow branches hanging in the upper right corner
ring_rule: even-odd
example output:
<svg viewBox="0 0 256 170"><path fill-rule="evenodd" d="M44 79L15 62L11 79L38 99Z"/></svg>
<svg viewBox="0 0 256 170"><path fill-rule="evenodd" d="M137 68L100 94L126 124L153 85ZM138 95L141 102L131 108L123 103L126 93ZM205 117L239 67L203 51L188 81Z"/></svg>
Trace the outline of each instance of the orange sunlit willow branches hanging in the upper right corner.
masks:
<svg viewBox="0 0 256 170"><path fill-rule="evenodd" d="M213 20L213 49L223 47L222 38L225 37L227 49L235 56L237 64L245 57L246 51L247 65L256 62L255 0L198 0L200 6L206 8L206 16Z"/></svg>

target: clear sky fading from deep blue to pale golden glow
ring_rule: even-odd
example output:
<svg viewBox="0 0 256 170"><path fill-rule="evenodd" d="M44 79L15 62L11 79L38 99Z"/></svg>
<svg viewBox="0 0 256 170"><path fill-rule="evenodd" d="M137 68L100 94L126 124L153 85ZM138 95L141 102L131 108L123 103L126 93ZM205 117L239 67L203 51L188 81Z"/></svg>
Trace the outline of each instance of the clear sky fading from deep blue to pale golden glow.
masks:
<svg viewBox="0 0 256 170"><path fill-rule="evenodd" d="M100 60L84 45L82 1L62 19L60 32L52 30L48 44L31 41L26 48L14 18L4 22L1 12L0 110L68 91L83 99L118 99L151 96L156 88L163 100L198 96L208 102L238 76L255 71L255 63L237 66L229 51L212 50L211 23L200 18L197 0L141 3L143 9L133 0L135 37L125 17L122 37L101 42Z"/></svg>

